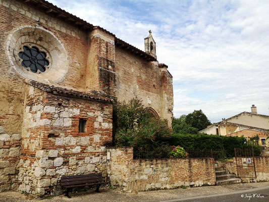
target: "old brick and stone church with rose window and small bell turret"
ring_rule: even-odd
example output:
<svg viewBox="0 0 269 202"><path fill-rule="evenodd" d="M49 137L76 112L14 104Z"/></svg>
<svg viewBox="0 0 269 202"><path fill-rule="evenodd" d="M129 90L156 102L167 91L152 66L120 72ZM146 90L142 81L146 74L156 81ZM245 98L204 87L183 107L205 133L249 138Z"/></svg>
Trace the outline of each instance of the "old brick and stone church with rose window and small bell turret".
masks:
<svg viewBox="0 0 269 202"><path fill-rule="evenodd" d="M144 52L43 0L0 0L0 32L0 191L54 195L61 176L105 175L115 97L171 125L151 32Z"/></svg>

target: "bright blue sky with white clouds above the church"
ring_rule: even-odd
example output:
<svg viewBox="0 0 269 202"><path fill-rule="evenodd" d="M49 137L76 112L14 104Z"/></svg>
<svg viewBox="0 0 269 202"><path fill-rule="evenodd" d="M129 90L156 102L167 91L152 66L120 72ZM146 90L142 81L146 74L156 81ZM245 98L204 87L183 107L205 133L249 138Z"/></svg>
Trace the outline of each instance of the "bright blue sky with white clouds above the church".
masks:
<svg viewBox="0 0 269 202"><path fill-rule="evenodd" d="M148 30L173 75L174 116L269 115L269 1L48 0L144 51Z"/></svg>

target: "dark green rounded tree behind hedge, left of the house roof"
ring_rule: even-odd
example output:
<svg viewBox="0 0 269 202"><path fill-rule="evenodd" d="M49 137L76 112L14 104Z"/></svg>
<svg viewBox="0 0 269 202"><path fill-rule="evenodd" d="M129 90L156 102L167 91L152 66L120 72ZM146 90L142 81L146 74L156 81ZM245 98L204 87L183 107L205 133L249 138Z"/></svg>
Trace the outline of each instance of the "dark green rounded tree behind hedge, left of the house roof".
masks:
<svg viewBox="0 0 269 202"><path fill-rule="evenodd" d="M194 110L186 116L185 122L198 130L205 129L211 122L207 119L202 110Z"/></svg>

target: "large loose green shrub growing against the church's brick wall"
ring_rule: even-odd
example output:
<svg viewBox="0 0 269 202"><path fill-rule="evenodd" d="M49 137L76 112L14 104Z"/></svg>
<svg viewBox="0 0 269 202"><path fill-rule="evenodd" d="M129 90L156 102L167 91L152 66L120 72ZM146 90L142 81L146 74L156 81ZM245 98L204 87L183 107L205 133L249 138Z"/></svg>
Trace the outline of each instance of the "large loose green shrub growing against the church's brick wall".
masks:
<svg viewBox="0 0 269 202"><path fill-rule="evenodd" d="M171 138L167 120L153 117L140 99L118 102L114 110L117 115L116 146L156 148L166 145Z"/></svg>

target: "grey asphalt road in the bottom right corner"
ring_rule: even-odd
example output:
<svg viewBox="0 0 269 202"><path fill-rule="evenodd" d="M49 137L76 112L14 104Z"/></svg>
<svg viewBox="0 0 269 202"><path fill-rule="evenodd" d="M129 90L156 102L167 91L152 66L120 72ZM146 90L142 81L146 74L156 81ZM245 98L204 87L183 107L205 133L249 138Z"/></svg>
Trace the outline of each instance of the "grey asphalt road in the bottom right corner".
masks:
<svg viewBox="0 0 269 202"><path fill-rule="evenodd" d="M221 193L221 194L212 194L212 195L203 195L203 196L194 196L189 198L182 199L172 199L172 200L163 200L159 202L177 202L177 201L185 201L185 202L241 202L241 201L269 201L269 186L259 187L248 190L234 191L229 193Z"/></svg>

